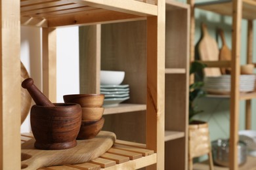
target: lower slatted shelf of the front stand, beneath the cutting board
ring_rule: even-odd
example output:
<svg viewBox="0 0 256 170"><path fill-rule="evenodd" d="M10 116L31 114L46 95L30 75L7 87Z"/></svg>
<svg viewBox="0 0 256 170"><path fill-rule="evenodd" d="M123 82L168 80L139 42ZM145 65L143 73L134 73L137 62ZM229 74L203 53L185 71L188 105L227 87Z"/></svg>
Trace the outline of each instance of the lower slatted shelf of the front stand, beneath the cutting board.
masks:
<svg viewBox="0 0 256 170"><path fill-rule="evenodd" d="M33 138L32 133L22 133L21 143ZM116 143L99 158L75 165L58 165L40 169L140 169L156 163L154 150L146 148L145 144L116 140Z"/></svg>

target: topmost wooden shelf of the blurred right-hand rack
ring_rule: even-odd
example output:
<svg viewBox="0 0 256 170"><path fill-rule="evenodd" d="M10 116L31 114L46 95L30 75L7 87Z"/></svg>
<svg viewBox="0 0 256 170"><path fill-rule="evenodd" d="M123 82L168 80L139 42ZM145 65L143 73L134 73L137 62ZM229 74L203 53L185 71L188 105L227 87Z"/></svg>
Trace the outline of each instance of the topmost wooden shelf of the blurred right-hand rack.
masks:
<svg viewBox="0 0 256 170"><path fill-rule="evenodd" d="M247 20L254 20L256 18L256 1L243 0L242 2L242 17ZM232 16L231 0L207 1L205 3L196 3L195 7L198 9L216 12L218 14Z"/></svg>

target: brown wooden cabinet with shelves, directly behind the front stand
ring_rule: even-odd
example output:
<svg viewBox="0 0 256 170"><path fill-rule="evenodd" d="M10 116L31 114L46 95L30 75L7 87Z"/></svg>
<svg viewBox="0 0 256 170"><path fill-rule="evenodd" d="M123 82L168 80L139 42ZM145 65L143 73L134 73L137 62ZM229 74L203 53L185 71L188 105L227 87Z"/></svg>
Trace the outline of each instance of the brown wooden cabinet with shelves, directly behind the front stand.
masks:
<svg viewBox="0 0 256 170"><path fill-rule="evenodd" d="M176 1L165 6L165 169L187 169L188 46L190 7ZM125 71L130 99L119 107L105 107L104 129L121 140L145 143L146 129L146 21L102 24L79 28L81 82L90 78L87 61L95 59L96 72ZM89 37L88 39L83 37ZM95 44L95 45L91 45ZM100 49L101 46L101 50ZM84 93L99 93L100 82L81 84ZM96 87L96 88L95 88ZM121 113L121 114L120 114ZM179 156L177 156L179 155Z"/></svg>

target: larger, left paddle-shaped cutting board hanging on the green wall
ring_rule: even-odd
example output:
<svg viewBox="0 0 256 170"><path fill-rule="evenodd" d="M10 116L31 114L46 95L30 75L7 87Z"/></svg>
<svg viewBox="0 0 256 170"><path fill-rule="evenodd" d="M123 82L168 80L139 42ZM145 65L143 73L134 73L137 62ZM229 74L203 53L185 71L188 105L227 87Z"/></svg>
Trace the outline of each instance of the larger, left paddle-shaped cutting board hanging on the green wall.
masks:
<svg viewBox="0 0 256 170"><path fill-rule="evenodd" d="M198 44L198 52L202 61L218 61L219 48L215 39L213 39L208 31L207 26L202 24L203 37ZM220 76L221 70L219 68L205 68L205 76Z"/></svg>

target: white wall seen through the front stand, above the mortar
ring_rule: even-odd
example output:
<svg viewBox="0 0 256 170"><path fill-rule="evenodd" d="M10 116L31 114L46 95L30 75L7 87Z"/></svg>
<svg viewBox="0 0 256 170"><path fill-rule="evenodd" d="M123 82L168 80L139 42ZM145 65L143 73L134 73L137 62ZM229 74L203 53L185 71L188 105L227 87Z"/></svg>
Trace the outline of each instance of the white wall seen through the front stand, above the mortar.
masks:
<svg viewBox="0 0 256 170"><path fill-rule="evenodd" d="M78 27L57 29L57 102L62 96L79 93L79 46ZM41 29L21 27L20 59L37 88L42 88ZM21 126L21 132L31 131L30 115Z"/></svg>

